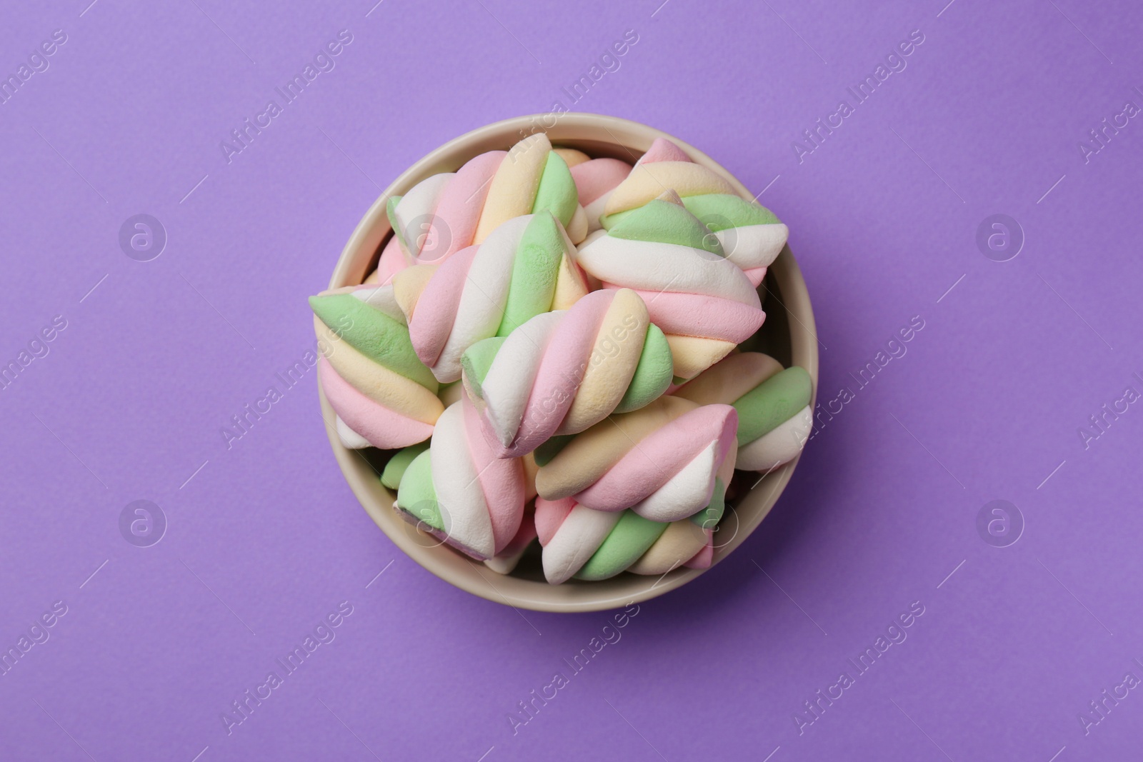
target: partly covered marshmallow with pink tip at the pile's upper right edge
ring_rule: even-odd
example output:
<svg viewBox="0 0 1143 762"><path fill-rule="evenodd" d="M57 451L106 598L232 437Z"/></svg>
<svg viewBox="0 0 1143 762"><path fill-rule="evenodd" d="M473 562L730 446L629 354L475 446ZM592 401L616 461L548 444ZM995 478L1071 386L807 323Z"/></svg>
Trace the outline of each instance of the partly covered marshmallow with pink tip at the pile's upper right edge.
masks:
<svg viewBox="0 0 1143 762"><path fill-rule="evenodd" d="M782 251L790 228L769 209L741 198L718 173L692 161L679 146L657 138L608 196L601 225L610 228L632 210L673 190L718 238L726 258L758 287Z"/></svg>

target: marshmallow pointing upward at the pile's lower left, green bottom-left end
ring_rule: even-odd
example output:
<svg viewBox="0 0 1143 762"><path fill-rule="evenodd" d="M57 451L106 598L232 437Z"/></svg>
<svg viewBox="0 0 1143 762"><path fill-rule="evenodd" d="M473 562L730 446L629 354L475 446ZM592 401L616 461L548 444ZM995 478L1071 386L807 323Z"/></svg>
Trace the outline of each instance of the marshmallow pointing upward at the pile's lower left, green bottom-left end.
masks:
<svg viewBox="0 0 1143 762"><path fill-rule="evenodd" d="M527 492L522 460L497 457L480 432L475 408L462 400L440 415L429 449L405 465L393 507L418 528L483 561L512 546Z"/></svg>

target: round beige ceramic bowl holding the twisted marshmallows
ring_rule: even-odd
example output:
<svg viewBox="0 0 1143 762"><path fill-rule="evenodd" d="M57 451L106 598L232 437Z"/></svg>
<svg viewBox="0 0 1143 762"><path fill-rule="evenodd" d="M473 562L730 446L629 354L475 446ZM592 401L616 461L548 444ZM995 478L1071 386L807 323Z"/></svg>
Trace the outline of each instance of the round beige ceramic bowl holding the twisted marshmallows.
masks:
<svg viewBox="0 0 1143 762"><path fill-rule="evenodd" d="M547 127L553 121L554 126ZM409 167L385 189L382 196L358 223L357 230L345 244L337 267L334 268L334 275L329 279L329 288L360 283L376 266L382 244L390 234L390 224L385 216L386 199L406 193L430 175L456 171L465 161L485 151L506 150L537 129L544 129L555 145L580 149L592 157L614 157L630 163L642 155L655 138L670 138L696 162L726 177L743 198L753 198L742 183L705 153L666 133L638 122L578 113L562 114L558 119L552 115L509 119L481 127L446 143ZM778 212L781 216L781 210ZM816 398L817 342L814 312L810 308L801 271L798 270L798 263L794 262L789 247L770 266L759 294L766 310L766 322L745 346L764 351L782 361L784 366L797 364L805 368L814 380ZM378 480L378 473L389 452L344 448L335 432L334 411L320 387L319 395L322 416L328 424L329 443L334 448L337 464L366 512L413 560L462 589L489 601L522 609L598 611L662 595L685 585L704 571L679 568L661 578L621 573L604 581L572 579L562 585L549 585L544 581L539 554L534 544L512 575L498 575L482 563L454 552L447 545L440 545L434 537L417 530L401 519L392 507L394 495L382 487ZM810 407L813 408L813 402ZM728 491L730 508L714 535L714 563L738 547L766 518L782 495L786 482L790 481L797 464L796 459L775 470L757 487L752 486L758 482L758 474L736 472L732 489Z"/></svg>

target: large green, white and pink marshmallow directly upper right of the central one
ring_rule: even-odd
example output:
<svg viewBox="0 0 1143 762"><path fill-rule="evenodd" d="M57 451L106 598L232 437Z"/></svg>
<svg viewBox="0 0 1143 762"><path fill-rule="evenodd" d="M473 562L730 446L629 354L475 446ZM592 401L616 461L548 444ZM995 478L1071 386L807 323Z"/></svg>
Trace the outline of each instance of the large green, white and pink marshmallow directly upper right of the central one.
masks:
<svg viewBox="0 0 1143 762"><path fill-rule="evenodd" d="M682 379L721 360L766 318L750 279L670 191L589 236L578 260L605 288L642 296Z"/></svg>

